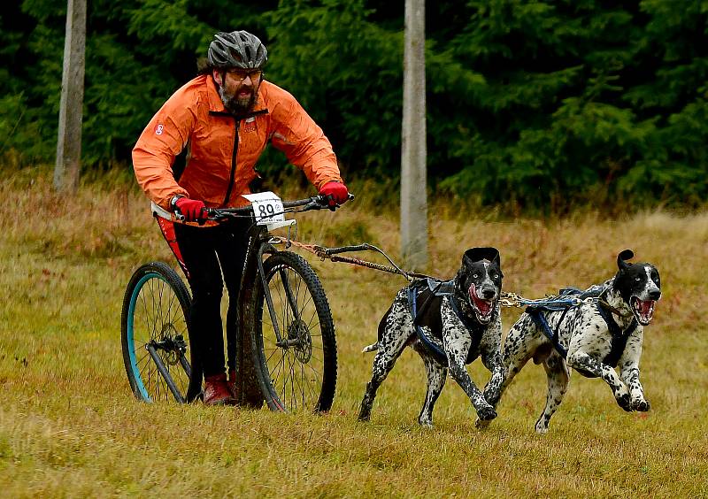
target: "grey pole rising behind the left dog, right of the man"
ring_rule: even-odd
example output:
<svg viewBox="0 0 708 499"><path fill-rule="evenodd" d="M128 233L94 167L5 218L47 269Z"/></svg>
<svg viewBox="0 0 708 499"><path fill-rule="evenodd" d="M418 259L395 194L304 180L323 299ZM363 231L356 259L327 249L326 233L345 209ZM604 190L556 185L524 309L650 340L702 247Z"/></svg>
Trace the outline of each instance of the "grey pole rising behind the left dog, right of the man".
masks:
<svg viewBox="0 0 708 499"><path fill-rule="evenodd" d="M401 140L401 254L427 265L425 0L405 0L404 117Z"/></svg>

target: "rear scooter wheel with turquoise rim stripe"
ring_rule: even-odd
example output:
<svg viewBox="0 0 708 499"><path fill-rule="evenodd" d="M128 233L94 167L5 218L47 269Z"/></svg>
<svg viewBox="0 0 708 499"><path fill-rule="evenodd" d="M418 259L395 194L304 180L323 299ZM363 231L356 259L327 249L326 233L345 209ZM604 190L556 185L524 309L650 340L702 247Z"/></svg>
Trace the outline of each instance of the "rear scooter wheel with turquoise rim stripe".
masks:
<svg viewBox="0 0 708 499"><path fill-rule="evenodd" d="M130 278L123 297L120 339L127 379L139 400L191 402L201 393L202 370L195 362L189 334L190 303L179 274L163 262L142 265ZM180 396L160 374L158 361Z"/></svg>

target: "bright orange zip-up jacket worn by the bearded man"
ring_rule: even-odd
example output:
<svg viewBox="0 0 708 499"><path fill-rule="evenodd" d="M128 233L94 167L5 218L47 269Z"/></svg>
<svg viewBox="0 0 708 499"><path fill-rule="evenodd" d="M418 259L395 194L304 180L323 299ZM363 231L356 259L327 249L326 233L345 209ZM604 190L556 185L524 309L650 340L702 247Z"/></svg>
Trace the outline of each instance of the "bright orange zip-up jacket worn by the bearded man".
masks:
<svg viewBox="0 0 708 499"><path fill-rule="evenodd" d="M319 190L330 180L342 181L332 144L295 97L269 81L261 81L250 118L235 119L224 108L211 75L197 76L160 108L133 149L133 167L150 200L169 210L181 194L209 207L249 202L249 183L268 141L303 170ZM188 148L179 180L174 158Z"/></svg>

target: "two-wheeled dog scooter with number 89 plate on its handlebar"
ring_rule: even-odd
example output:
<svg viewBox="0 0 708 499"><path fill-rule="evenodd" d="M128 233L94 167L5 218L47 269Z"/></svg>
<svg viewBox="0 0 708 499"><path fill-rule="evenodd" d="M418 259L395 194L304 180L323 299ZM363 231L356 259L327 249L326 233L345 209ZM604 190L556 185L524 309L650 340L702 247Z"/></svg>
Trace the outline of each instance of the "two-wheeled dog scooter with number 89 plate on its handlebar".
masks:
<svg viewBox="0 0 708 499"><path fill-rule="evenodd" d="M273 193L249 196L249 206L206 213L207 220L218 223L253 220L238 303L242 341L236 346L236 370L241 389L251 392L247 402L252 403L253 374L260 402L272 411L328 411L335 397L337 349L327 296L307 261L287 250L289 235L282 238L271 231L291 230L295 220L286 220L285 213L330 207L323 196L296 201L281 201ZM154 204L153 213L160 223L180 221ZM285 249L276 247L281 244ZM189 403L202 395L203 372L190 348L189 303L180 275L163 262L142 265L129 280L121 343L127 378L138 399Z"/></svg>

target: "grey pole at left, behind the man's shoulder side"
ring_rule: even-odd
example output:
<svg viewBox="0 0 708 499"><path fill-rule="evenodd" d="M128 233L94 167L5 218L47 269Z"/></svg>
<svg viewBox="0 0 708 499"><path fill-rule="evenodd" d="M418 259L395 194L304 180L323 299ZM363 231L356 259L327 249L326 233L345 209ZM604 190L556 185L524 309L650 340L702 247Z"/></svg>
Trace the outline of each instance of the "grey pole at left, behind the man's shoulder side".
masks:
<svg viewBox="0 0 708 499"><path fill-rule="evenodd" d="M68 0L57 164L54 167L54 188L59 192L75 192L79 186L85 50L86 0Z"/></svg>

